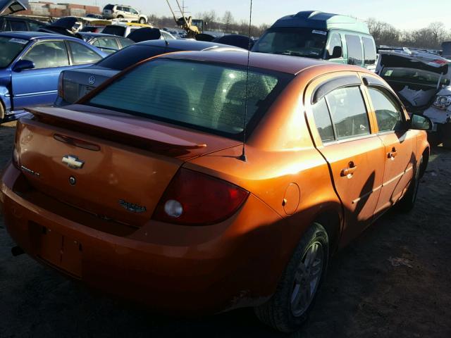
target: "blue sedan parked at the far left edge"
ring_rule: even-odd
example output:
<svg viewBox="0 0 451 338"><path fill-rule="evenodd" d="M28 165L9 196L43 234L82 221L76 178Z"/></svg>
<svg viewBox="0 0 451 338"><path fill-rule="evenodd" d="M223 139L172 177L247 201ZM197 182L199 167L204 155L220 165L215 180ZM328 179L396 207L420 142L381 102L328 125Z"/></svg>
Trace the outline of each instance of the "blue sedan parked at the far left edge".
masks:
<svg viewBox="0 0 451 338"><path fill-rule="evenodd" d="M0 33L0 121L25 106L53 104L63 70L96 63L108 54L75 37L44 32Z"/></svg>

